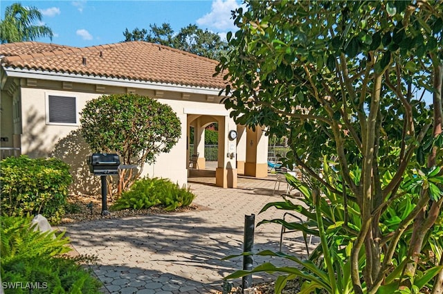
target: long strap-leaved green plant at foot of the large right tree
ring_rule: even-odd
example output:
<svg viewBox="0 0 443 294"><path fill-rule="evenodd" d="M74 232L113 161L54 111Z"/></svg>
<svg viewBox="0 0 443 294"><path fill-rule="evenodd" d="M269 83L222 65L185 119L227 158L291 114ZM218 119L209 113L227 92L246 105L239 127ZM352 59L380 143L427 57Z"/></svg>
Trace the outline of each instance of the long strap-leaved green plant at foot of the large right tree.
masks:
<svg viewBox="0 0 443 294"><path fill-rule="evenodd" d="M325 168L321 172L322 178L329 185L342 190L343 186L340 184L342 181L341 176L328 166L325 164ZM352 174L358 177L359 171L354 170ZM294 200L292 198L284 195L284 201L268 203L262 208L260 213L269 208L277 208L302 215L306 217L307 221L300 223L299 221L289 222L285 219L265 219L258 223L257 226L265 223L278 223L288 230L302 232L305 242L307 242L307 235L320 237L320 245L309 255L309 260L301 260L294 255L272 252L271 250L257 253L262 256L281 257L295 261L302 266L301 270L299 268L276 267L268 263L261 264L252 271L237 271L226 277L226 279L242 277L260 271L268 273L280 272L285 275L279 277L275 282L276 291L281 291L286 285L287 280L302 277L305 282L302 284L300 293L311 293L314 289L323 289L327 293L354 293L350 279L350 252L353 241L361 230L358 205L345 203L345 199L331 193L324 185L319 185L315 178L305 177L305 181L302 182L291 174L285 174L285 176L288 183L301 193L302 198L297 198L296 200L302 201L302 203L293 203ZM354 180L358 181L358 178ZM413 203L411 199L417 198L419 194L413 193L410 190L410 185L405 185L404 187L407 189L404 192L407 193L402 193L403 196L400 199L396 199L396 203L390 206L381 217L380 228L383 234L389 235L398 230L402 221L416 207L416 205L411 204ZM397 270L390 271L386 278L386 284L381 286L377 293L397 293L395 291L399 288L399 283L403 277L401 270L398 270L398 268L401 268L401 265L404 265L405 261L407 261L407 244L410 241L411 232L412 227L408 228L401 235L401 239L398 242L399 245L391 259L392 267L397 268ZM432 288L433 286L429 282L442 270L442 266L436 266L437 260L440 260L441 250L437 249L437 244L441 244L441 236L442 232L440 232L439 227L429 233L428 238L433 239L429 250L431 254L422 255L422 258L419 260L419 273L415 277L409 277L411 288L415 289L417 293L422 288ZM364 256L361 255L359 257L359 269L362 270L366 263Z"/></svg>

